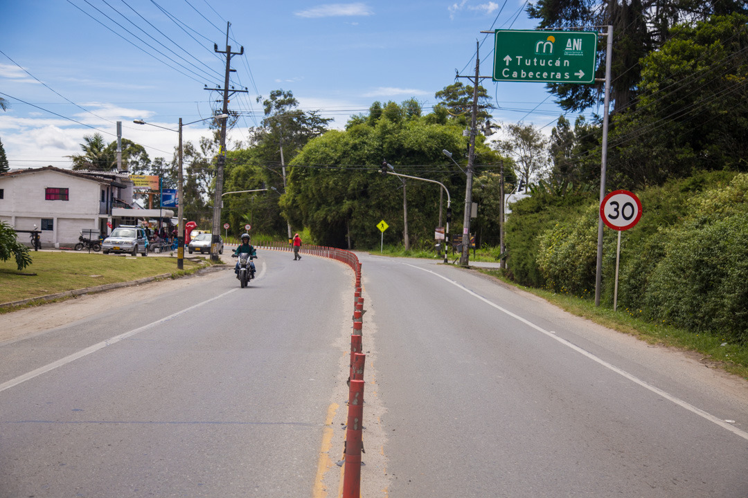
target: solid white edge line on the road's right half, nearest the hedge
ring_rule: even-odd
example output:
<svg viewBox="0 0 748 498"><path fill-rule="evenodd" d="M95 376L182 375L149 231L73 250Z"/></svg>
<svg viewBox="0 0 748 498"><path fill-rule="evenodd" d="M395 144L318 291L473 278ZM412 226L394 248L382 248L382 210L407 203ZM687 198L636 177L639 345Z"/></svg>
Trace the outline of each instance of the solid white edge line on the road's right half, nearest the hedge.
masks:
<svg viewBox="0 0 748 498"><path fill-rule="evenodd" d="M489 301L488 299L485 299L485 297L480 296L477 293L474 293L472 290L468 289L467 287L463 286L462 284L457 283L454 280L451 280L450 278L447 278L445 276L441 276L438 273L432 272L432 270L426 270L426 268L420 268L416 267L412 264L403 263L408 267L413 267L417 270L423 270L424 272L431 273L432 275L438 276L439 278L442 278L446 281L448 281L450 284L453 284L456 287L459 287L462 290L465 290L468 294L470 294L473 297L476 297L480 299L482 302L485 302L487 305L493 306L497 310L501 311L502 313L505 313L509 315L509 317L514 318L515 320L519 320L520 322L524 323L525 325L532 327L533 329L536 329L538 332L542 332L543 334L547 335L548 337L553 338L554 340L559 341L564 346L574 349L574 351L580 353L581 355L585 355L587 358L589 358L592 361L597 362L598 364L601 364L603 367L612 370L615 373L618 373L620 376L624 376L626 379L630 380L631 382L634 382L635 384L638 384L646 389L651 390L653 393L662 396L665 399L668 399L669 401L675 403L678 406L681 406L681 408L685 408L688 411L699 415L699 417L705 418L706 420L709 420L711 423L717 424L717 426L722 427L723 429L727 429L730 432L733 432L734 434L740 436L741 438L744 438L748 440L748 432L741 431L741 429L736 428L735 426L731 426L729 423L727 423L725 420L722 420L720 418L714 417L714 415L702 410L701 408L696 408L696 406L691 405L688 402L685 402L683 399L677 398L675 396L672 396L672 394L666 393L659 387L655 387L651 384L648 384L647 382L644 382L642 379L639 379L637 376L631 375L631 373L626 372L625 370L621 370L619 367L616 367L613 364L608 363L602 358L599 358L598 356L593 355L591 352L586 351L585 349L580 348L579 346L570 343L568 340L563 339L562 337L559 337L554 332L548 332L545 329L542 329L542 327L536 326L536 324L530 322L529 320L524 319L523 317L520 317L518 314L512 313L512 311L509 311L505 308L502 308L501 306L495 304L494 302Z"/></svg>

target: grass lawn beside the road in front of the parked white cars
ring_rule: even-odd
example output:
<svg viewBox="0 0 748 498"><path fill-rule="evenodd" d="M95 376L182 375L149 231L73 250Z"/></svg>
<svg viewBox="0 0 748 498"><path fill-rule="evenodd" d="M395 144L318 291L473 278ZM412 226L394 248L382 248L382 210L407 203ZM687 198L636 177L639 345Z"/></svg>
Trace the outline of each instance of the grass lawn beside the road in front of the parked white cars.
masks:
<svg viewBox="0 0 748 498"><path fill-rule="evenodd" d="M163 275L186 275L209 266L209 258L177 258L103 255L88 252L30 252L33 263L18 271L16 260L0 261L0 303L47 296L66 290L85 289L115 282ZM30 275L35 273L36 275Z"/></svg>

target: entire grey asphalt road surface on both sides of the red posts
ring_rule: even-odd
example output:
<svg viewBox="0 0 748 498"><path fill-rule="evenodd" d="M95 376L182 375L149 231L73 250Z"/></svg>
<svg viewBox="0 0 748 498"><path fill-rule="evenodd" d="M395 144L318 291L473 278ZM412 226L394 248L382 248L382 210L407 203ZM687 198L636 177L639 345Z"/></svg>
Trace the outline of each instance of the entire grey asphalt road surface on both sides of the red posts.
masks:
<svg viewBox="0 0 748 498"><path fill-rule="evenodd" d="M364 497L748 497L745 382L476 273L358 256ZM0 343L0 497L337 497L353 273L257 263L248 289L224 270Z"/></svg>

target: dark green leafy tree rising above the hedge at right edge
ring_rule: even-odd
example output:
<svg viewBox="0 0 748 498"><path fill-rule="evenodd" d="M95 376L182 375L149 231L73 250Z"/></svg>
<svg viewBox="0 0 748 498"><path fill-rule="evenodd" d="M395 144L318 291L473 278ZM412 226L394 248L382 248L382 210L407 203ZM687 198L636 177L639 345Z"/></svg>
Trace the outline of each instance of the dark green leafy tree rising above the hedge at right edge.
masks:
<svg viewBox="0 0 748 498"><path fill-rule="evenodd" d="M642 60L637 109L614 120L613 178L636 187L748 171L748 16L678 25Z"/></svg>

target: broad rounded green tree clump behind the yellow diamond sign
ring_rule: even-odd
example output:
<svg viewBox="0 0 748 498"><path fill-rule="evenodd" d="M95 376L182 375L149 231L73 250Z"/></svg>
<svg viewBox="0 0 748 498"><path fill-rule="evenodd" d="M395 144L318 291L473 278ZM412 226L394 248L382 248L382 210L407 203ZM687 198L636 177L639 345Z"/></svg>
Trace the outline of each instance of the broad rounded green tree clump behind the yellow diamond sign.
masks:
<svg viewBox="0 0 748 498"><path fill-rule="evenodd" d="M385 240L399 240L404 228L402 182L380 174L384 159L396 172L441 181L454 194L453 200L464 191L464 175L441 152L465 150L462 125L418 117L411 104L406 101L399 110L390 103L384 108L375 105L373 109L382 112L373 119L354 116L345 131L328 131L311 140L292 161L295 167L281 205L293 223L310 229L317 243L346 247L350 240L353 247L373 247L379 243L373 227L383 219L391 227ZM477 141L476 152L476 165L496 166L496 155L482 140ZM439 192L438 185L408 180L411 246L433 243ZM459 222L453 220L456 233L454 225Z"/></svg>

